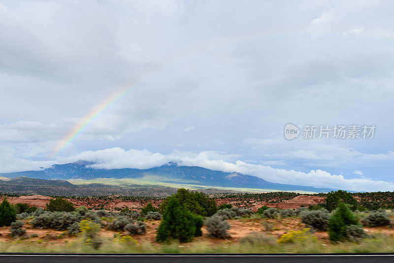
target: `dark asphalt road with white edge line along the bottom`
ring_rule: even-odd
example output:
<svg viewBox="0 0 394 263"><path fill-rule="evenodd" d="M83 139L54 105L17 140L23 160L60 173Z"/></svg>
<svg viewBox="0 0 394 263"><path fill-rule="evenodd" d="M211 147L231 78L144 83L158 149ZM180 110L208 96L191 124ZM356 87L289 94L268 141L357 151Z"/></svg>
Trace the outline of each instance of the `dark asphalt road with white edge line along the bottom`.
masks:
<svg viewBox="0 0 394 263"><path fill-rule="evenodd" d="M394 255L0 255L0 263L382 263Z"/></svg>

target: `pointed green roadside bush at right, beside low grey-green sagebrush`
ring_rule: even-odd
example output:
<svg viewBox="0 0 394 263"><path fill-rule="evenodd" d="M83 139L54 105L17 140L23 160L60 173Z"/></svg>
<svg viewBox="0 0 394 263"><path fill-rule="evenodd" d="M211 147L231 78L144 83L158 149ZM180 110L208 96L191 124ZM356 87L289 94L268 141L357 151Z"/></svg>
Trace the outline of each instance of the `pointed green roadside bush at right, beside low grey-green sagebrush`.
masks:
<svg viewBox="0 0 394 263"><path fill-rule="evenodd" d="M346 230L351 225L358 225L357 220L346 204L339 203L328 222L330 241L335 243L346 240Z"/></svg>

